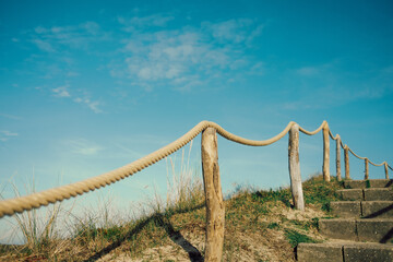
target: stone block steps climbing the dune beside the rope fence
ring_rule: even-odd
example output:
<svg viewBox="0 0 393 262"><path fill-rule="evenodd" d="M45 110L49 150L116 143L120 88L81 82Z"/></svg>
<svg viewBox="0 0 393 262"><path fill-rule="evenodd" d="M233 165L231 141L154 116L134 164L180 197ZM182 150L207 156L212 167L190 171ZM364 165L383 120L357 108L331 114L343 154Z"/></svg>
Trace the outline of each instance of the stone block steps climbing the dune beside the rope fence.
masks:
<svg viewBox="0 0 393 262"><path fill-rule="evenodd" d="M299 243L300 262L393 262L393 179L347 180L332 202L338 218L320 219L326 243Z"/></svg>

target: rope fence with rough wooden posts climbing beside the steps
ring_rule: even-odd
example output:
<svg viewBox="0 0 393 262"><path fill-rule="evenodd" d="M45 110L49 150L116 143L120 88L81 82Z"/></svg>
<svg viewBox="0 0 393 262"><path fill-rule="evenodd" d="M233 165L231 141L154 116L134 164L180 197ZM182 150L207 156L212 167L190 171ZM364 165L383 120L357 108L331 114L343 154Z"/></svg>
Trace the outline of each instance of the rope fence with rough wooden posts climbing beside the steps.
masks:
<svg viewBox="0 0 393 262"><path fill-rule="evenodd" d="M9 199L0 202L0 218L5 215L22 213L32 209L46 206L66 199L75 198L83 193L94 191L102 187L109 186L121 179L132 176L135 172L159 162L168 155L183 147L198 134L202 133L201 152L202 152L202 172L206 196L206 249L205 261L221 261L224 241L224 217L225 210L223 204L222 187L218 168L218 145L216 133L223 138L250 146L266 146L283 139L289 133L288 139L288 169L290 177L290 189L295 209L305 210L303 193L301 187L300 163L299 163L299 132L307 135L314 135L322 131L323 133L323 164L322 174L325 181L330 181L330 139L336 141L336 177L342 180L341 176L341 148L344 150L345 179L349 176L349 152L357 158L365 160L365 179L369 179L368 164L373 166L384 166L385 179L389 179L389 170L392 167L386 163L374 164L367 157L358 156L346 144L344 145L341 136L335 136L331 132L326 121L313 130L308 131L299 127L296 122L290 121L285 129L277 135L262 141L249 140L226 131L215 122L202 121L193 127L181 138L169 143L168 145L131 163L123 167L117 168L109 172L88 178L79 182L48 189L29 195Z"/></svg>

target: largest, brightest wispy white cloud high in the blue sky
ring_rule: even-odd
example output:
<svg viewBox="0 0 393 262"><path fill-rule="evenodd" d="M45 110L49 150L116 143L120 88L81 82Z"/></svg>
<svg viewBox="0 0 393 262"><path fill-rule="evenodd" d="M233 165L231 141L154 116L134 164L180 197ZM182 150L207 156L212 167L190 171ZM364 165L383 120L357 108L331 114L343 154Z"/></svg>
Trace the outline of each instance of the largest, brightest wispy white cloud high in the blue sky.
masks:
<svg viewBox="0 0 393 262"><path fill-rule="evenodd" d="M130 25L124 31L131 35L124 40L123 64L118 61L111 66L111 75L129 78L146 91L160 85L186 91L217 79L229 81L235 70L249 72L261 66L245 52L246 43L261 32L262 25L255 21L229 20L216 24L204 22L200 27L163 28L172 19L163 15L119 19L121 24ZM157 27L148 33L138 29L151 24Z"/></svg>

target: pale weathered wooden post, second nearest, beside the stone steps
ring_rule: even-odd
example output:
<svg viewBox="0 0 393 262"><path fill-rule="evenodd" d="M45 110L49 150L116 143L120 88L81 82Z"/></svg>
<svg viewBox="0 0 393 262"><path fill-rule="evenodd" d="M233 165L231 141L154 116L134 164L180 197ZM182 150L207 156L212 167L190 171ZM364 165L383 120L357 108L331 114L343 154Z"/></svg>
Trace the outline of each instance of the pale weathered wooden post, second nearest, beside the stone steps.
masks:
<svg viewBox="0 0 393 262"><path fill-rule="evenodd" d="M289 130L288 164L290 177L290 190L295 209L305 211L305 200L301 187L300 163L299 163L299 126L294 124Z"/></svg>

